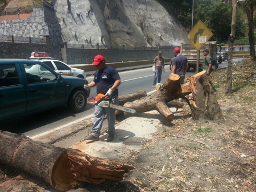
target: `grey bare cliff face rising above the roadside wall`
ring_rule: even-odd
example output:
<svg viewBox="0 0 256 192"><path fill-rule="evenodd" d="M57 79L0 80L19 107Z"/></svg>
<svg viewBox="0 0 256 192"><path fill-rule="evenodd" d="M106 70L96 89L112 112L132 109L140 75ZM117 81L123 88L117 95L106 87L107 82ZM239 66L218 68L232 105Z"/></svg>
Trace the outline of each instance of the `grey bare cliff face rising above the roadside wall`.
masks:
<svg viewBox="0 0 256 192"><path fill-rule="evenodd" d="M155 0L56 0L63 41L120 46L187 43L179 24Z"/></svg>

